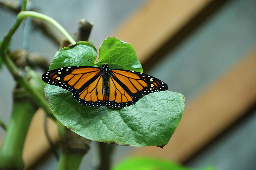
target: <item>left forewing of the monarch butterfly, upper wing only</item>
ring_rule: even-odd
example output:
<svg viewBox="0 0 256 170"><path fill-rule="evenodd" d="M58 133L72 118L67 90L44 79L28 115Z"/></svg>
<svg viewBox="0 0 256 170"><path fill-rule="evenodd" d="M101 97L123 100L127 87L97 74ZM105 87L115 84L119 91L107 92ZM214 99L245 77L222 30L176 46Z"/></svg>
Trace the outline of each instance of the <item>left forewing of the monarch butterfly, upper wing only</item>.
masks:
<svg viewBox="0 0 256 170"><path fill-rule="evenodd" d="M63 67L44 73L42 80L47 84L79 93L99 77L100 69L89 66Z"/></svg>

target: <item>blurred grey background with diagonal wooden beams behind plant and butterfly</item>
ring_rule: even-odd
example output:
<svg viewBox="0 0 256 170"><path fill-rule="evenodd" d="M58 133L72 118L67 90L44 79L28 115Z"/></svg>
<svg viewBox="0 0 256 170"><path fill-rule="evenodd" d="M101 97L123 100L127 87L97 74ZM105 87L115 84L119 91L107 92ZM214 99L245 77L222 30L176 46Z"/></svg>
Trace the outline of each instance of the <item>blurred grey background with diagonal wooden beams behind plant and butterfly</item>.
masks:
<svg viewBox="0 0 256 170"><path fill-rule="evenodd" d="M19 1L0 0L0 37L16 20ZM84 18L94 22L90 41L99 49L109 36L131 43L144 72L186 97L182 121L163 148L115 146L112 163L132 155L151 155L191 168L256 167L256 1L255 0L34 0L30 8L54 18L71 35ZM11 50L22 48L24 23ZM59 46L32 26L28 51L50 62ZM63 38L56 29L56 36ZM8 124L15 82L0 71L0 118ZM33 118L24 146L30 169L56 169L43 132L44 115ZM57 142L56 126L49 123ZM4 131L0 129L2 140ZM98 150L92 142L80 169L93 169Z"/></svg>

